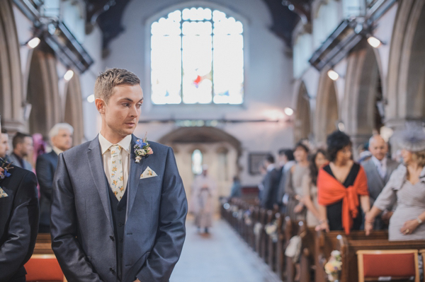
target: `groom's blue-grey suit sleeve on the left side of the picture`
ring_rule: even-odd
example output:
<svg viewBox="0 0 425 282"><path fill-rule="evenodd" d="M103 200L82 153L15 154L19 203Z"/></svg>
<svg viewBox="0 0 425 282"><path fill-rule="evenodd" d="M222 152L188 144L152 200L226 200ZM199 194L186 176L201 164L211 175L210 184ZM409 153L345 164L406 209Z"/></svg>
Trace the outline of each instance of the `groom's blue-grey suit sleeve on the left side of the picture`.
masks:
<svg viewBox="0 0 425 282"><path fill-rule="evenodd" d="M67 280L101 281L77 241L78 222L74 189L62 153L59 155L53 180L50 230L53 252Z"/></svg>

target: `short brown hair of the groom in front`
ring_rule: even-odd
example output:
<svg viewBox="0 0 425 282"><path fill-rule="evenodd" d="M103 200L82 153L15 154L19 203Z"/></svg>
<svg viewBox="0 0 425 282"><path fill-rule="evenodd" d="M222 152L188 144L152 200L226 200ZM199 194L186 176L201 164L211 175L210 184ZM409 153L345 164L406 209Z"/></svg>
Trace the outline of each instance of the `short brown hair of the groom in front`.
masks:
<svg viewBox="0 0 425 282"><path fill-rule="evenodd" d="M103 99L108 103L113 88L123 84L134 86L140 84L140 79L126 69L107 69L99 74L94 83L94 97Z"/></svg>

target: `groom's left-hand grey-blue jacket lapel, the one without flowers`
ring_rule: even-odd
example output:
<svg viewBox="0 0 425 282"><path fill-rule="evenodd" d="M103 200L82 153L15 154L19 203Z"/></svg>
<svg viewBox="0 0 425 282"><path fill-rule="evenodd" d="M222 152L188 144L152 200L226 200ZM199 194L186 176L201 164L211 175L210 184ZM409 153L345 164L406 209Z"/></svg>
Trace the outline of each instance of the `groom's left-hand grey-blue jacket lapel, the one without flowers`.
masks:
<svg viewBox="0 0 425 282"><path fill-rule="evenodd" d="M89 150L87 151L87 158L89 159L91 176L93 177L94 184L96 185L99 196L101 197L103 209L105 210L106 217L113 228L111 204L109 203L108 196L108 184L106 183L105 170L103 169L101 146L99 144L98 137L91 141Z"/></svg>

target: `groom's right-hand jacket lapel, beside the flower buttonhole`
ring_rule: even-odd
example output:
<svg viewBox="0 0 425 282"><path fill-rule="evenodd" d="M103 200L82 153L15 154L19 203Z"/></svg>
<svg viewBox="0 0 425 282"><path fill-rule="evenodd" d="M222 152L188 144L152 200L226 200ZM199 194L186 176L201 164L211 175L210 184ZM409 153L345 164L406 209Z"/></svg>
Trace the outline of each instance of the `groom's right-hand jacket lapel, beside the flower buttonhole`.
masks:
<svg viewBox="0 0 425 282"><path fill-rule="evenodd" d="M137 137L132 135L131 147L130 147L130 175L128 176L128 208L127 215L130 215L130 211L133 203L135 202L137 187L139 187L140 175L144 171L145 158L140 160L140 163L136 163L135 152L133 150Z"/></svg>

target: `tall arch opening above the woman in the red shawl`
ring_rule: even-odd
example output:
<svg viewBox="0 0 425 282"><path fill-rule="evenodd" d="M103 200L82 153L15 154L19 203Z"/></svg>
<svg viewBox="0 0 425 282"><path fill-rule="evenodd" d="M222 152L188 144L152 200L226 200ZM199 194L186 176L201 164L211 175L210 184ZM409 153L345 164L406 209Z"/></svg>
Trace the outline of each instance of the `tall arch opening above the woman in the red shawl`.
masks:
<svg viewBox="0 0 425 282"><path fill-rule="evenodd" d="M367 42L361 42L348 57L341 118L354 148L383 125L382 79L375 54Z"/></svg>

